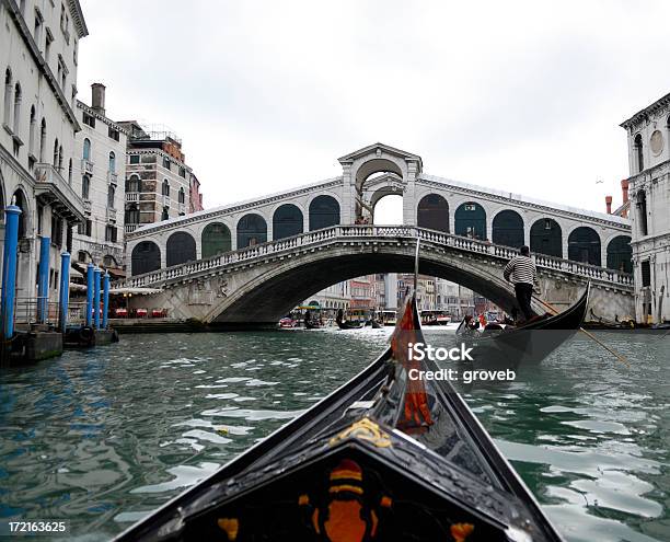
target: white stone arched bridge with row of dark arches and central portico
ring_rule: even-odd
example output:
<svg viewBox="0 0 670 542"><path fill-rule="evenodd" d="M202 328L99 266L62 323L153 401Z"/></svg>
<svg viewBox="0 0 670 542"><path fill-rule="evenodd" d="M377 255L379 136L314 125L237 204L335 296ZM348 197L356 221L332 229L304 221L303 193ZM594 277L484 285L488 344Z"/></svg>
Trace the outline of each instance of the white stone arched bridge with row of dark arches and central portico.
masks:
<svg viewBox="0 0 670 542"><path fill-rule="evenodd" d="M420 157L382 143L339 163L335 178L136 230L125 285L163 288L142 302L174 318L273 322L331 284L411 270L421 237L421 273L501 307L512 302L501 266L528 244L545 300L565 307L590 279L594 312L633 313L627 219L428 175ZM402 196L405 228L371 227L386 195Z"/></svg>

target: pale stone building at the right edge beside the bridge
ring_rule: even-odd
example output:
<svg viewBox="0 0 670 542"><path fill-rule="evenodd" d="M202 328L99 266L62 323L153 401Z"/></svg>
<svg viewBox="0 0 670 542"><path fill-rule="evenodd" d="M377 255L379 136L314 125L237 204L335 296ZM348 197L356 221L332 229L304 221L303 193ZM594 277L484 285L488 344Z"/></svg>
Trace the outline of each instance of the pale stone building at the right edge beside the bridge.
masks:
<svg viewBox="0 0 670 542"><path fill-rule="evenodd" d="M628 134L627 180L638 322L670 320L670 94L621 125Z"/></svg>

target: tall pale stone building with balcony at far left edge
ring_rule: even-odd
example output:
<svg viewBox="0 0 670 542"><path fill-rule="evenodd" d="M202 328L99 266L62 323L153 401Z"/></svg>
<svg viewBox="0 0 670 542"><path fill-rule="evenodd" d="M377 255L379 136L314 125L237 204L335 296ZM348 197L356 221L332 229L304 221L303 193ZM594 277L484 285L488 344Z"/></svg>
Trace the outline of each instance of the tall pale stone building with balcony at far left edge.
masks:
<svg viewBox="0 0 670 542"><path fill-rule="evenodd" d="M19 303L36 297L41 238L50 240L49 297L57 299L60 252L83 221L72 157L78 48L86 35L78 0L0 0L0 205L14 199L23 211Z"/></svg>

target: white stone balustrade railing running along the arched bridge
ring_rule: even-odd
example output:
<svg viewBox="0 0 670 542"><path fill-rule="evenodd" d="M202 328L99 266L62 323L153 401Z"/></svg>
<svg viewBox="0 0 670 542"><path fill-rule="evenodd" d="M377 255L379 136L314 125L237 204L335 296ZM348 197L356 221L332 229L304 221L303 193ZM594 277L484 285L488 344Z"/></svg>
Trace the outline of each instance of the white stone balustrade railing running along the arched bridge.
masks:
<svg viewBox="0 0 670 542"><path fill-rule="evenodd" d="M141 288L157 284L164 284L183 277L188 277L190 275L198 275L212 269L220 269L221 267L228 265L263 258L264 256L289 254L297 249L316 246L324 241L342 238L388 238L407 241L418 238L421 241L427 241L429 243L451 246L465 252L488 254L503 260L510 260L518 254L518 251L510 246L496 245L488 241L480 241L476 239L455 235L453 233L427 230L416 226L333 226L331 228L310 231L292 238L279 239L255 246L247 246L238 251L227 252L207 260L188 262L173 267L168 267L165 269L138 275L126 279L123 285L130 288ZM633 275L627 273L620 273L614 269L605 269L596 265L573 262L570 260L563 260L554 256L546 256L544 254L534 254L533 257L539 267L580 275L622 286L633 285Z"/></svg>

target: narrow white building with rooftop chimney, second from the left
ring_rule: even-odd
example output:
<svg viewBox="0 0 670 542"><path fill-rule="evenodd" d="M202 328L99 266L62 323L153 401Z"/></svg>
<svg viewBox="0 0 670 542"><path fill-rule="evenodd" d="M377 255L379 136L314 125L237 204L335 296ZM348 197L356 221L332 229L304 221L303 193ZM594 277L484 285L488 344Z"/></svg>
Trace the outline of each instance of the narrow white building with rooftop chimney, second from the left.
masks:
<svg viewBox="0 0 670 542"><path fill-rule="evenodd" d="M77 101L72 186L83 199L85 221L73 234L72 260L123 274L127 131L105 116L105 87L92 85L91 106Z"/></svg>

